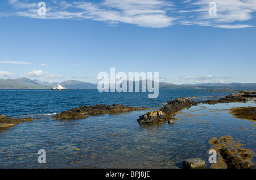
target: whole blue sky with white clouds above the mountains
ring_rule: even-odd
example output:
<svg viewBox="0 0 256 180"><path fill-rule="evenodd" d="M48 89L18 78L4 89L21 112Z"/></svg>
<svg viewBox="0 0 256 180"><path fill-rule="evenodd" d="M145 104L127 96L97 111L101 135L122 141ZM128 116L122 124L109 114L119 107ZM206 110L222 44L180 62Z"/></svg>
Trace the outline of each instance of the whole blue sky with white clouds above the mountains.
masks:
<svg viewBox="0 0 256 180"><path fill-rule="evenodd" d="M256 82L255 0L48 0L46 16L39 2L1 1L0 78L95 83L114 67L177 84Z"/></svg>

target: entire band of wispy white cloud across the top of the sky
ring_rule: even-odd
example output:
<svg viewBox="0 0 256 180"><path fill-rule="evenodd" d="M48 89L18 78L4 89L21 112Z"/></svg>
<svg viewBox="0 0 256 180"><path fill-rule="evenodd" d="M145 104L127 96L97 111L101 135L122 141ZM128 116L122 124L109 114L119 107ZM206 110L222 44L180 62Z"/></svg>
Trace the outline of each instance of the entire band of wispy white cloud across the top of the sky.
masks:
<svg viewBox="0 0 256 180"><path fill-rule="evenodd" d="M15 15L40 19L91 19L108 26L119 23L139 27L164 28L175 24L213 26L217 28L254 27L247 21L254 18L255 0L214 0L217 15L209 15L212 0L102 0L47 2L47 15L38 15L38 5L32 1L9 0ZM6 14L0 14L0 17ZM245 22L246 24L242 24Z"/></svg>

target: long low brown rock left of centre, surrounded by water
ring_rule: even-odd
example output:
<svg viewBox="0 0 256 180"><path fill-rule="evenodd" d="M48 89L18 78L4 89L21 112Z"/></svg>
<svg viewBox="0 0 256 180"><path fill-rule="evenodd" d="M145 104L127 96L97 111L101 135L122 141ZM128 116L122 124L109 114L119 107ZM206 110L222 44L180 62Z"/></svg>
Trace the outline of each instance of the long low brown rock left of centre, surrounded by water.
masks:
<svg viewBox="0 0 256 180"><path fill-rule="evenodd" d="M124 106L122 104L113 104L111 106L96 104L95 106L80 106L69 111L61 112L60 114L56 114L54 119L85 119L88 118L85 115L118 114L140 110L148 110L148 108Z"/></svg>

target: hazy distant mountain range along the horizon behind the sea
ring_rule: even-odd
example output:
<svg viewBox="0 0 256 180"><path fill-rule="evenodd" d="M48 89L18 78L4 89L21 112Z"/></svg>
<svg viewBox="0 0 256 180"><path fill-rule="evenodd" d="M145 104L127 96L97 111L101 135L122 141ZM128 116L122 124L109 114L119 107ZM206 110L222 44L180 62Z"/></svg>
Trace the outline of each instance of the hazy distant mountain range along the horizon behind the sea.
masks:
<svg viewBox="0 0 256 180"><path fill-rule="evenodd" d="M0 79L0 89L51 89L58 82L42 82L29 78ZM97 89L97 83L68 80L60 82L67 89ZM128 86L127 86L128 87ZM175 85L167 82L159 82L159 89L231 89L231 90L255 90L256 83L199 83Z"/></svg>

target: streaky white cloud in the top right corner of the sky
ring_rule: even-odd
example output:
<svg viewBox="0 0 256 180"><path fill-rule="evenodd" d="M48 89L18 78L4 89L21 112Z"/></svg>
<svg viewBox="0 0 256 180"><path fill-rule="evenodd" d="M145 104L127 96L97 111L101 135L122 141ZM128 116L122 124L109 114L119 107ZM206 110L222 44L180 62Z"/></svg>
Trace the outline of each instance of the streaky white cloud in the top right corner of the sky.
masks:
<svg viewBox="0 0 256 180"><path fill-rule="evenodd" d="M197 0L190 3L181 13L193 15L188 18L185 15L182 24L197 24L199 26L213 26L219 28L247 28L251 25L242 25L240 22L253 19L253 12L256 11L256 1L254 0L214 0L216 2L217 15L209 15L209 3L212 0ZM228 24L232 23L232 24Z"/></svg>

